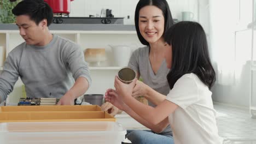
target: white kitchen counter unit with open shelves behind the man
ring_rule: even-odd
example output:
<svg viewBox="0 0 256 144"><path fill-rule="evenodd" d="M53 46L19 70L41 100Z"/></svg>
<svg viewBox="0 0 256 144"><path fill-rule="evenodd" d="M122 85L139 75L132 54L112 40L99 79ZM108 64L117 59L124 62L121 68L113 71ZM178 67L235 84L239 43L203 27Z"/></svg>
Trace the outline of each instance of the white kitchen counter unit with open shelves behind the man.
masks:
<svg viewBox="0 0 256 144"><path fill-rule="evenodd" d="M15 25L4 25L4 28L1 28L1 25L4 24L0 24L0 46L4 47L7 56L11 50L23 43L24 40L19 35L18 28L16 28ZM131 47L131 50L143 46L137 38L135 27L132 25L102 26L56 24L49 28L51 33L74 41L74 43L79 44L83 50L88 48L104 48L106 50L107 60L102 63L102 67L89 67L92 86L89 88L88 92L86 92L87 94L104 94L107 88L114 88L114 77L117 75L120 67L115 65L113 52L109 46L110 44L128 45ZM1 69L2 68L0 68L0 70ZM22 85L23 83L19 79L15 84L14 91L9 95L10 103L18 103L21 97Z"/></svg>

